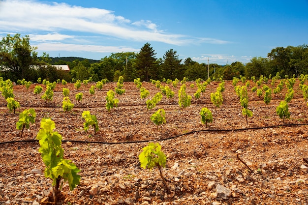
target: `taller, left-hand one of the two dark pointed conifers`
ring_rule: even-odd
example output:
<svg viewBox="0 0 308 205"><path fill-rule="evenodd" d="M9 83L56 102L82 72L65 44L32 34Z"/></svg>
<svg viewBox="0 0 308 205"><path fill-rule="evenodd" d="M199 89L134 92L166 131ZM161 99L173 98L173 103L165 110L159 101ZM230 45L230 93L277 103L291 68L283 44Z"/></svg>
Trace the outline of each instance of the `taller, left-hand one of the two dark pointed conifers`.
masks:
<svg viewBox="0 0 308 205"><path fill-rule="evenodd" d="M136 58L136 71L141 81L157 78L156 53L150 43L146 43Z"/></svg>

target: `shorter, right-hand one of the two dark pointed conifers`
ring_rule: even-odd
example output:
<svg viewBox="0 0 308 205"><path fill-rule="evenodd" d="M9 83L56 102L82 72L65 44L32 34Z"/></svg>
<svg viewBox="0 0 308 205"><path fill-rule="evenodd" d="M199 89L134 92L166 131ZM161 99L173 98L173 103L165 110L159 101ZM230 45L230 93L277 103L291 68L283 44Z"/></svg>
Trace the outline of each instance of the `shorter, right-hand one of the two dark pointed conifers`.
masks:
<svg viewBox="0 0 308 205"><path fill-rule="evenodd" d="M182 59L179 59L179 55L177 55L176 51L173 51L173 49L167 51L163 56L163 62L161 64L161 77L172 80L176 78L182 79L184 76L180 70L181 61Z"/></svg>

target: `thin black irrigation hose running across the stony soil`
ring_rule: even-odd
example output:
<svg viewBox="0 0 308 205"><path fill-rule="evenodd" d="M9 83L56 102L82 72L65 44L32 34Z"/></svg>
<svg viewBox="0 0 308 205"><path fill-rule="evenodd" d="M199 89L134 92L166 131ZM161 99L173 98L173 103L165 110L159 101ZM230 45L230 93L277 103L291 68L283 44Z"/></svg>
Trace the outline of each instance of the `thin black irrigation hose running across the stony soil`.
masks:
<svg viewBox="0 0 308 205"><path fill-rule="evenodd" d="M267 128L274 128L274 127L291 127L291 126L305 126L308 124L281 124L281 125L271 125L265 127L247 127L247 128L239 128L239 129L220 129L220 130L194 130L190 132L186 132L181 135L176 135L173 137L158 139L158 140L143 140L143 141L128 141L128 142L97 142L97 141L80 141L80 140L62 140L62 142L72 142L72 143L93 143L93 144L106 144L106 145L115 145L115 144L132 144L132 143L148 143L152 141L164 141L164 140L171 140L174 138L182 137L184 135L189 135L195 132L237 132L237 131L244 131L244 130L256 130L256 129L267 129ZM0 142L0 145L9 144L9 143L19 143L19 142L27 142L33 143L38 142L38 140L17 140L17 141L8 141L8 142Z"/></svg>

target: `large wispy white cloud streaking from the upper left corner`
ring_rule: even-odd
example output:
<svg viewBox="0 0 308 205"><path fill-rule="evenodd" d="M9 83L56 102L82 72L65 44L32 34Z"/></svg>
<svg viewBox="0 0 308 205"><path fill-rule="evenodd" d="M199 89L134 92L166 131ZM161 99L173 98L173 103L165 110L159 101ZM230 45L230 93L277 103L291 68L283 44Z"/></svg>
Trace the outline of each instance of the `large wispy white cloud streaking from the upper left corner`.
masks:
<svg viewBox="0 0 308 205"><path fill-rule="evenodd" d="M92 33L92 35L112 36L139 42L157 41L179 46L188 43L228 43L218 39L166 33L159 30L150 20L131 22L106 9L46 1L42 3L35 0L0 0L0 30L50 32L46 35L32 36L36 40L45 41L71 38L60 34L64 32L82 32L89 33L88 35Z"/></svg>

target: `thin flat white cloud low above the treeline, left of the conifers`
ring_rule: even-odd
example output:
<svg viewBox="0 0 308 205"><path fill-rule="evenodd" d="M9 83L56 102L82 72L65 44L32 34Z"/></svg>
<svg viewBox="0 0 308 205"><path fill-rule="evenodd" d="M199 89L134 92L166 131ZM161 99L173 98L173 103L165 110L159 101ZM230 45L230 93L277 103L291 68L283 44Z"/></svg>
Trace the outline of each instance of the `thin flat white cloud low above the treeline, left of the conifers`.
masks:
<svg viewBox="0 0 308 205"><path fill-rule="evenodd" d="M97 53L121 53L121 52L139 52L139 50L129 47L117 46L97 46L97 45L77 45L64 43L40 43L33 45L37 51L85 51Z"/></svg>

